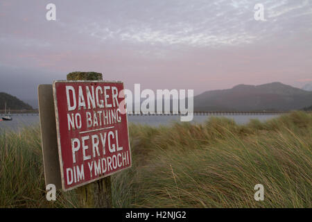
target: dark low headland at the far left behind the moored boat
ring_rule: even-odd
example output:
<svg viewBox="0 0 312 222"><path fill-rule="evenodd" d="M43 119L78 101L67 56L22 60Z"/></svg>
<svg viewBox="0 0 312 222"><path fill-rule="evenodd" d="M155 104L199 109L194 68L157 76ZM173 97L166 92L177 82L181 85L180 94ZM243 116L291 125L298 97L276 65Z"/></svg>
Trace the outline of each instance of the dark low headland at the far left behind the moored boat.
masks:
<svg viewBox="0 0 312 222"><path fill-rule="evenodd" d="M5 92L0 92L0 110L4 110L5 104L6 108L10 108L10 110L33 110L31 105L24 103L17 99L17 97Z"/></svg>

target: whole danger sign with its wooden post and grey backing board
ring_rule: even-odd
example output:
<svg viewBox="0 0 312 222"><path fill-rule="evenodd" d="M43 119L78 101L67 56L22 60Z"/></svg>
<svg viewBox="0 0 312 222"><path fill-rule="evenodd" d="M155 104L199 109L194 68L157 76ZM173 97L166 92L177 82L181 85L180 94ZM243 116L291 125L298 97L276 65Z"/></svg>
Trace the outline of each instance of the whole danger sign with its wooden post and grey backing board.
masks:
<svg viewBox="0 0 312 222"><path fill-rule="evenodd" d="M122 90L123 83L94 72L54 81L53 96L51 85L38 87L46 184L76 189L80 207L112 207L110 175L131 167Z"/></svg>

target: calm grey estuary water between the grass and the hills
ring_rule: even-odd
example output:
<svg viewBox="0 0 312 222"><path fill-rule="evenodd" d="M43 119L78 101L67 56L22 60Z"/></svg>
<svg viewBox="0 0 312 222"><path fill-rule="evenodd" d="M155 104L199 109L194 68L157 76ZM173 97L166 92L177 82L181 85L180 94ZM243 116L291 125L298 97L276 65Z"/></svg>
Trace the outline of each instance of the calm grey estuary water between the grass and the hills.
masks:
<svg viewBox="0 0 312 222"><path fill-rule="evenodd" d="M245 124L250 121L250 119L259 119L259 121L266 121L268 119L272 119L278 117L279 114L266 114L266 115L195 115L193 117L192 123L202 123L207 121L210 117L227 117L229 119L233 119L238 124ZM18 131L21 128L28 126L35 126L39 124L39 116L12 116L12 121L0 121L0 133L3 130L12 130ZM146 124L149 126L159 126L159 125L168 125L175 121L180 121L180 116L128 116L129 123L139 123Z"/></svg>

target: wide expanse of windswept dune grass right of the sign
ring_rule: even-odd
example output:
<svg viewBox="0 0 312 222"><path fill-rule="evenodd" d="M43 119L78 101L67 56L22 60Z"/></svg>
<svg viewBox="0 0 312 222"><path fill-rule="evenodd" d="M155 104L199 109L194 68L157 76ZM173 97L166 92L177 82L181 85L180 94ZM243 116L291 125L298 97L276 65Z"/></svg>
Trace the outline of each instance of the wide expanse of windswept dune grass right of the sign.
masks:
<svg viewBox="0 0 312 222"><path fill-rule="evenodd" d="M311 121L311 114L292 112L245 126L215 117L198 125L132 126L132 152L142 161L114 176L113 188L125 194L115 205L311 207ZM257 184L263 201L254 200Z"/></svg>

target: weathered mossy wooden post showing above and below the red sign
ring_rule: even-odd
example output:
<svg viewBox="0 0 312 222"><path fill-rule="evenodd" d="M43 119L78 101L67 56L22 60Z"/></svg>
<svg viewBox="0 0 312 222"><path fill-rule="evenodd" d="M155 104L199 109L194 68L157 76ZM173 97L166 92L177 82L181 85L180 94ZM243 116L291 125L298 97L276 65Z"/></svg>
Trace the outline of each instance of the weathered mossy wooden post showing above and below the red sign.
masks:
<svg viewBox="0 0 312 222"><path fill-rule="evenodd" d="M67 74L67 80L103 80L98 72L74 71ZM80 207L110 208L112 207L111 176L89 183L77 189Z"/></svg>

